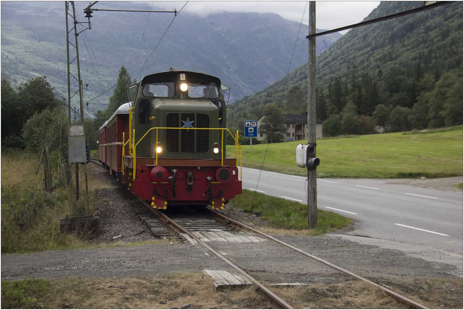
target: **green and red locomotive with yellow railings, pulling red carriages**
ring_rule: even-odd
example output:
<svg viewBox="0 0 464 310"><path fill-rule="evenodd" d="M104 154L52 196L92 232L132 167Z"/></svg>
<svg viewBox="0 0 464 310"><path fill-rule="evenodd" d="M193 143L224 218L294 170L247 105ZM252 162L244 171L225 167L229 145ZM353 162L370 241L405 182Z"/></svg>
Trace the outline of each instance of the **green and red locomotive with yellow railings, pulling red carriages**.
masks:
<svg viewBox="0 0 464 310"><path fill-rule="evenodd" d="M100 128L103 167L154 208L224 208L242 193L238 132L226 129L227 89L218 77L172 67L143 77ZM233 158L226 158L228 135Z"/></svg>

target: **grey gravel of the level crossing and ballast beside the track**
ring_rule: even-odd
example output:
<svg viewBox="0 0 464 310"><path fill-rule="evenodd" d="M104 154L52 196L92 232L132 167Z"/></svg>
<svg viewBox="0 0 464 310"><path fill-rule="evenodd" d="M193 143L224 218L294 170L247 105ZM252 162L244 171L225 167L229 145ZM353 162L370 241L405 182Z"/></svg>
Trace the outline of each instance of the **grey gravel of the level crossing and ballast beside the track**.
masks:
<svg viewBox="0 0 464 310"><path fill-rule="evenodd" d="M92 166L91 166L92 167ZM90 175L108 181L114 188L98 192L98 215L101 235L92 243L106 243L99 248L50 251L21 255L2 255L2 280L62 277L142 277L157 274L202 272L204 269L237 273L202 245L170 242L169 240L128 245L128 242L156 240L148 232L133 236L145 228L129 204L118 194L118 183L106 170L93 165ZM233 208L233 207L232 207ZM235 213L235 214L232 214ZM226 208L223 213L252 227L262 227L260 218ZM121 241L112 237L122 234ZM411 277L460 278L462 266L413 258L398 250L363 245L337 236L275 235L277 239L301 248L335 265L363 277L401 280ZM111 241L110 241L111 240ZM351 278L325 265L305 258L271 241L245 244L211 242L210 245L268 284L282 282L343 283ZM461 276L462 278L462 276Z"/></svg>

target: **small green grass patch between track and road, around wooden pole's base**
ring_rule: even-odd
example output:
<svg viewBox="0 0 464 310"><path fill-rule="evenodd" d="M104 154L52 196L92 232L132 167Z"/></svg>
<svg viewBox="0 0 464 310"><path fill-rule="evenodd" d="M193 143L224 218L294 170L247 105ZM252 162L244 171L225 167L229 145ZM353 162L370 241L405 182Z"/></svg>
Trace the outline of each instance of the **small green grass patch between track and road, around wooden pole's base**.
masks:
<svg viewBox="0 0 464 310"><path fill-rule="evenodd" d="M253 206L251 201L255 195ZM308 229L308 206L298 202L282 198L267 196L242 190L242 194L231 200L235 208L247 213L261 212L267 226L274 229L304 230L304 234L318 235L333 232L336 229L346 227L352 220L330 211L317 210L317 224Z"/></svg>

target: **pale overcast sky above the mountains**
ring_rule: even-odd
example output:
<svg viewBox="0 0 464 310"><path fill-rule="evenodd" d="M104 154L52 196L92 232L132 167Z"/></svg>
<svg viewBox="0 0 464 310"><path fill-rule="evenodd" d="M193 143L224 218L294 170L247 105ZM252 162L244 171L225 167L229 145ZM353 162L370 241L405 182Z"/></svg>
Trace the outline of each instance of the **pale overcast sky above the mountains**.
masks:
<svg viewBox="0 0 464 310"><path fill-rule="evenodd" d="M100 2L103 4L103 2ZM151 1L148 2L151 6ZM179 11L186 1L155 1L154 6L166 10L175 8ZM305 1L190 1L184 7L185 12L206 15L218 11L277 13L284 19L308 25L309 8ZM335 29L359 23L380 1L316 1L316 27L318 29ZM97 7L97 6L96 6ZM303 17L304 12L304 17ZM346 33L348 30L342 31Z"/></svg>

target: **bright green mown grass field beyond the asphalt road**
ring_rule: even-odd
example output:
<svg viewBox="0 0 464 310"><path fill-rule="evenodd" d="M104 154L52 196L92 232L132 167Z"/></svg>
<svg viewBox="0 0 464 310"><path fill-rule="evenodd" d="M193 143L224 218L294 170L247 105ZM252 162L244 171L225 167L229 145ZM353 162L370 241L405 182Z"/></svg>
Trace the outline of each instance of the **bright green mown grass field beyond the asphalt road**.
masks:
<svg viewBox="0 0 464 310"><path fill-rule="evenodd" d="M264 170L306 175L296 166L296 146L305 141L269 144ZM317 141L320 178L443 178L463 175L463 126ZM261 168L268 144L242 146L242 165ZM233 156L233 146L227 155ZM240 164L240 160L238 160Z"/></svg>

